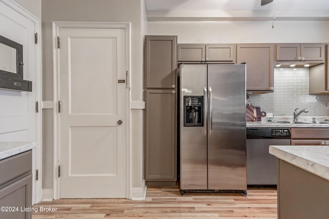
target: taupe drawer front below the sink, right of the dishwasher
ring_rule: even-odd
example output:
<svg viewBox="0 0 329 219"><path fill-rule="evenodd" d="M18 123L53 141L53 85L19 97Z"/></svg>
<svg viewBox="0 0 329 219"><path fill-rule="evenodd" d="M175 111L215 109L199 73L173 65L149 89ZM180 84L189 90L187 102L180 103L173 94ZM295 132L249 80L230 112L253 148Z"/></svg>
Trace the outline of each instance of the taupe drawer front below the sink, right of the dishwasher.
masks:
<svg viewBox="0 0 329 219"><path fill-rule="evenodd" d="M291 139L328 139L329 129L291 128Z"/></svg>

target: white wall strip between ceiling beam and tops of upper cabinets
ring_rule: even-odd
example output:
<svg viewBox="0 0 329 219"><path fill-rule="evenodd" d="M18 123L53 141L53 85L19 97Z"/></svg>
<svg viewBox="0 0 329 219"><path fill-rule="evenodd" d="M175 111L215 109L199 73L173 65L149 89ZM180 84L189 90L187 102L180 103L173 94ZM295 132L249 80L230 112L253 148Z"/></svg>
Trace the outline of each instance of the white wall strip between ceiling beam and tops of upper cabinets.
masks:
<svg viewBox="0 0 329 219"><path fill-rule="evenodd" d="M328 43L329 22L148 22L148 34L178 43Z"/></svg>

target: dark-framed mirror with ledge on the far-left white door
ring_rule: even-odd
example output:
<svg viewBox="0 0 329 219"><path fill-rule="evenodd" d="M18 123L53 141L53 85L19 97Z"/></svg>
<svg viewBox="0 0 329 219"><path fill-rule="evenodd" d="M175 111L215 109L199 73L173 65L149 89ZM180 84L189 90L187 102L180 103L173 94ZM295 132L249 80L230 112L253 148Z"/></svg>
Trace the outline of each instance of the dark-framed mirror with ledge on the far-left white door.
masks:
<svg viewBox="0 0 329 219"><path fill-rule="evenodd" d="M0 88L32 91L32 82L23 79L23 45L0 35Z"/></svg>

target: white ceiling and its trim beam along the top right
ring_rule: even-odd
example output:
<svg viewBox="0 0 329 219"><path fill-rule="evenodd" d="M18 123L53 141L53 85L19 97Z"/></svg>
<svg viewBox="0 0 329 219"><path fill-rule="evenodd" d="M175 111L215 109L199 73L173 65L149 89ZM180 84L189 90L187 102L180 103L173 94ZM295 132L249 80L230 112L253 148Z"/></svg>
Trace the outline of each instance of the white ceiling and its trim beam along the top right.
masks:
<svg viewBox="0 0 329 219"><path fill-rule="evenodd" d="M329 21L329 0L145 0L148 21Z"/></svg>

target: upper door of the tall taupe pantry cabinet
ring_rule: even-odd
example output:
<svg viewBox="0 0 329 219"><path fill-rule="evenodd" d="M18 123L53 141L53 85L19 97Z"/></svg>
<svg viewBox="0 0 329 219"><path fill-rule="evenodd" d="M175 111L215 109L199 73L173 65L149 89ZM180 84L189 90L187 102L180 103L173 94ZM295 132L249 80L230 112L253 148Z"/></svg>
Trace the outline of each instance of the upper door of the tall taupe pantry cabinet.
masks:
<svg viewBox="0 0 329 219"><path fill-rule="evenodd" d="M145 87L176 87L177 36L145 36Z"/></svg>

